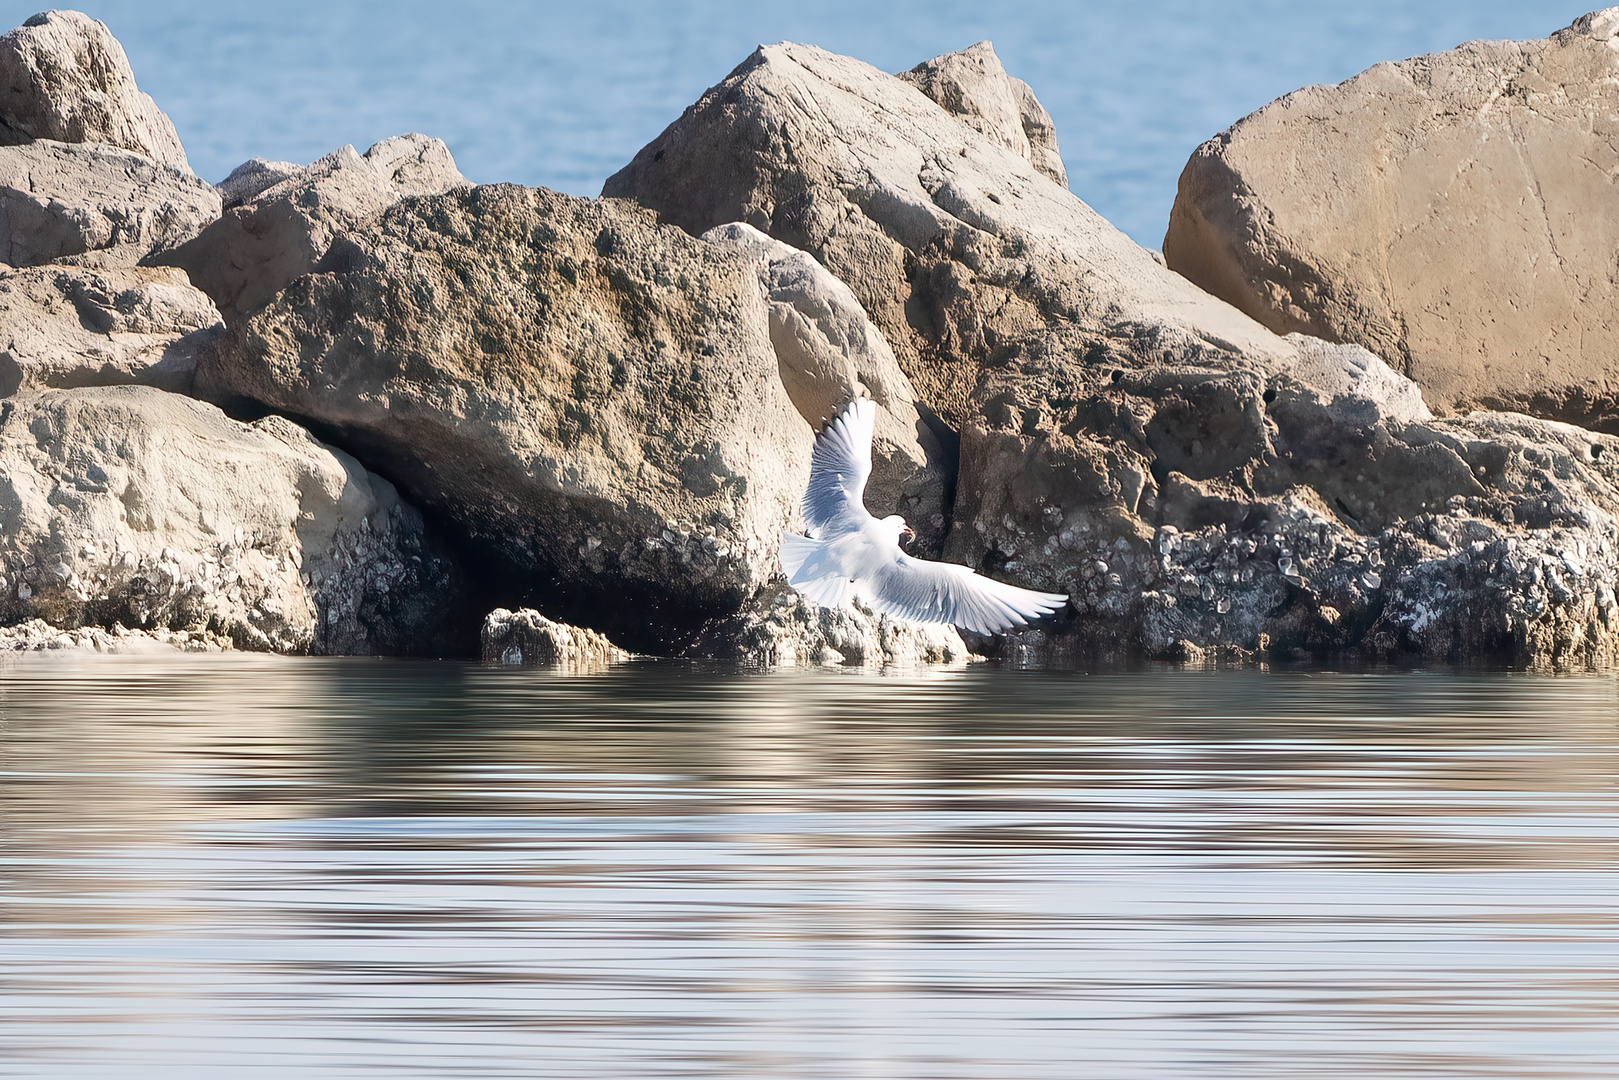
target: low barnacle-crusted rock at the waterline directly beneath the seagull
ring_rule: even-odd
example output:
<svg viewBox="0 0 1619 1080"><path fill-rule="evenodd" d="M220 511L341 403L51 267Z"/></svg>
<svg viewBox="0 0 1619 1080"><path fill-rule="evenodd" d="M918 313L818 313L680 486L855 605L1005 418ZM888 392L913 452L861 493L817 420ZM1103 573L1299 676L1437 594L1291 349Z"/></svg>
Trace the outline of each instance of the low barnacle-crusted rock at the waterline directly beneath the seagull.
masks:
<svg viewBox="0 0 1619 1080"><path fill-rule="evenodd" d="M955 627L879 615L863 604L819 607L792 588L763 589L740 612L716 620L686 651L761 665L960 665L975 659Z"/></svg>

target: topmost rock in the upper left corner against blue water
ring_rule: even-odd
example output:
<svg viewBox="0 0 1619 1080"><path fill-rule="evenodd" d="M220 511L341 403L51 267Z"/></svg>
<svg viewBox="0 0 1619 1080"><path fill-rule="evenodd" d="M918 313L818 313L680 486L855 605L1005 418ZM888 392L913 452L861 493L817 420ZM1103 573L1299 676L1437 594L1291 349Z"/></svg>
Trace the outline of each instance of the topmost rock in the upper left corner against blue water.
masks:
<svg viewBox="0 0 1619 1080"><path fill-rule="evenodd" d="M78 11L45 11L0 37L0 144L104 142L189 173L168 117L134 86L123 47Z"/></svg>

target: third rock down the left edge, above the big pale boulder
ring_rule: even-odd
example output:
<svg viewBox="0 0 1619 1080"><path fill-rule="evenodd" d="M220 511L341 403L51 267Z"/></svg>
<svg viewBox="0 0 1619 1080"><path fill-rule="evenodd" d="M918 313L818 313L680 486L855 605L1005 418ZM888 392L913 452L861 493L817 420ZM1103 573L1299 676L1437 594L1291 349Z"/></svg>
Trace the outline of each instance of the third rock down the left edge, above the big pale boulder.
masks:
<svg viewBox="0 0 1619 1080"><path fill-rule="evenodd" d="M189 393L225 325L175 269L34 267L0 275L0 397L139 382Z"/></svg>

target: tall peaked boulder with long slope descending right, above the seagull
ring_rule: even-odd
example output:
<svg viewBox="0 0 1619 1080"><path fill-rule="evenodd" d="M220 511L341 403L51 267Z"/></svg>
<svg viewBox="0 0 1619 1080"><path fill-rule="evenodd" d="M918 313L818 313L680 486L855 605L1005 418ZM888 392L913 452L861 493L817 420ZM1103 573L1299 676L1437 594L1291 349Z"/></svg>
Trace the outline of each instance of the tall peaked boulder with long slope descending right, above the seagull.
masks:
<svg viewBox="0 0 1619 1080"><path fill-rule="evenodd" d="M759 49L607 180L693 233L746 222L847 283L950 427L1020 356L1290 363L1017 151L915 86L808 45Z"/></svg>

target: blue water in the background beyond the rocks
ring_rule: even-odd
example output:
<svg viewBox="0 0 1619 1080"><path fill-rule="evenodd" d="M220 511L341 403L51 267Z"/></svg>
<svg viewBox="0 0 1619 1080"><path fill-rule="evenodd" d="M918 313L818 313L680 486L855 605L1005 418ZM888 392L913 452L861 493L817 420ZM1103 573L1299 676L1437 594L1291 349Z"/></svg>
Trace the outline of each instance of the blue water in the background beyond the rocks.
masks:
<svg viewBox="0 0 1619 1080"><path fill-rule="evenodd" d="M0 3L19 24L37 0ZM473 181L594 196L759 42L889 71L991 39L1057 125L1069 185L1138 243L1164 235L1206 138L1289 91L1473 39L1528 39L1588 8L1536 0L1143 3L899 0L84 0L173 118L196 172L308 162L403 131Z"/></svg>

